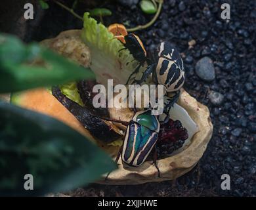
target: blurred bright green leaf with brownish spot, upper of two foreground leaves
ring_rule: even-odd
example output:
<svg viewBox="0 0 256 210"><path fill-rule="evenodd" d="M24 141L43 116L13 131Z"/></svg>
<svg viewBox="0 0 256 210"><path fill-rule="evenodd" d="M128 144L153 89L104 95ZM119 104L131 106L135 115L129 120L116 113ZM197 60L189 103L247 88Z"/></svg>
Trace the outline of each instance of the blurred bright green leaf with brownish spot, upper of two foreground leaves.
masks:
<svg viewBox="0 0 256 210"><path fill-rule="evenodd" d="M89 68L45 49L24 45L12 35L0 33L0 93L22 91L94 78Z"/></svg>

